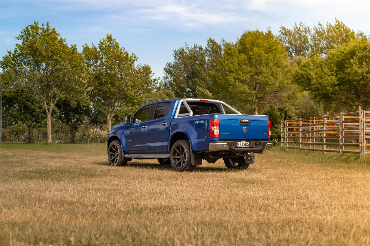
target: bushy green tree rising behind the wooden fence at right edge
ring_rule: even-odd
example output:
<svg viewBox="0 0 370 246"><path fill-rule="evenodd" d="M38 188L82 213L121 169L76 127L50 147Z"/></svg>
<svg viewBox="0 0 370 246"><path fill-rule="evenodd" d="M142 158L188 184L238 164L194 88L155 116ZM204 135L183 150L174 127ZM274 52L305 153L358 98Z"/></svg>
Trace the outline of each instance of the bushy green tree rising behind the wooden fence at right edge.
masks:
<svg viewBox="0 0 370 246"><path fill-rule="evenodd" d="M357 40L338 45L326 57L312 55L301 62L293 79L316 101L347 112L370 107L370 42ZM339 109L338 109L339 110Z"/></svg>

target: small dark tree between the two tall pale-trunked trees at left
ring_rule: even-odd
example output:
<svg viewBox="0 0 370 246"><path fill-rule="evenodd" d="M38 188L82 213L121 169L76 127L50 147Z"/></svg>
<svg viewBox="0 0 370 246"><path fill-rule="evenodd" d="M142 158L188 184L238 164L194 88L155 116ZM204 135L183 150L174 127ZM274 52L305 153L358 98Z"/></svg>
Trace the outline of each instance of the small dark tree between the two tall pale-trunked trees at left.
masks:
<svg viewBox="0 0 370 246"><path fill-rule="evenodd" d="M90 115L90 107L87 104L81 103L81 101L72 104L67 99L58 100L55 106L58 109L55 115L62 123L70 127L71 142L74 143L76 141L76 130L82 125L85 117Z"/></svg>

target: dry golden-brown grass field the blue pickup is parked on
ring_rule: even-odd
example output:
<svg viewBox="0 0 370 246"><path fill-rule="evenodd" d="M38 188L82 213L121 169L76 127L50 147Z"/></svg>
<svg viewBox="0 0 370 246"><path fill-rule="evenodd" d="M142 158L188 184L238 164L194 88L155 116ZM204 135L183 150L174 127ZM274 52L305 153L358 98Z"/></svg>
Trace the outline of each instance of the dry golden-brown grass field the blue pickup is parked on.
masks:
<svg viewBox="0 0 370 246"><path fill-rule="evenodd" d="M369 245L370 158L280 150L245 171L107 165L105 144L0 146L1 245Z"/></svg>

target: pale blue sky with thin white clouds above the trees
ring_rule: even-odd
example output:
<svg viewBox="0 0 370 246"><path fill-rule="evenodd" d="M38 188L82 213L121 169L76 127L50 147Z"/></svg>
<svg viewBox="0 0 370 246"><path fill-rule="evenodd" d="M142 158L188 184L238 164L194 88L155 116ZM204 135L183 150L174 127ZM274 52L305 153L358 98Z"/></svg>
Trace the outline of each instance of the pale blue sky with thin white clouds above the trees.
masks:
<svg viewBox="0 0 370 246"><path fill-rule="evenodd" d="M185 43L204 45L211 37L235 41L245 30L277 34L281 25L339 18L370 34L370 1L0 1L0 56L14 48L21 28L50 21L68 44L81 51L110 33L138 63L163 76L172 51Z"/></svg>

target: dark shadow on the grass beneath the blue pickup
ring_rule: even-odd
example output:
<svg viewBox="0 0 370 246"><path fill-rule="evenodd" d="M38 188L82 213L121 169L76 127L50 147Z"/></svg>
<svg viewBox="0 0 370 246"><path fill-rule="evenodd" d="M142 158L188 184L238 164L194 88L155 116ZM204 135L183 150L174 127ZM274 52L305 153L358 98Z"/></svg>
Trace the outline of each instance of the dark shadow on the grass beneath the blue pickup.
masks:
<svg viewBox="0 0 370 246"><path fill-rule="evenodd" d="M108 162L98 162L93 163L95 165L104 165L104 166L110 166ZM153 170L168 170L168 171L175 171L172 169L171 165L159 165L159 164L153 164L153 163L140 163L140 162L134 162L134 163L127 163L124 167L112 167L112 168L125 168L125 167L135 167L140 169L153 169ZM249 171L247 170L229 170L226 167L209 167L209 166L198 166L195 168L194 172L238 172L238 171Z"/></svg>

